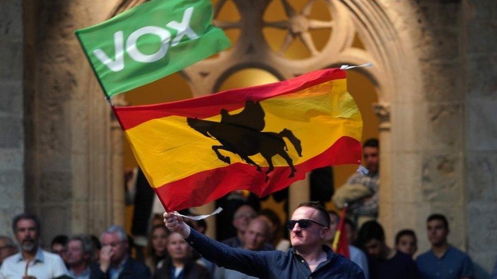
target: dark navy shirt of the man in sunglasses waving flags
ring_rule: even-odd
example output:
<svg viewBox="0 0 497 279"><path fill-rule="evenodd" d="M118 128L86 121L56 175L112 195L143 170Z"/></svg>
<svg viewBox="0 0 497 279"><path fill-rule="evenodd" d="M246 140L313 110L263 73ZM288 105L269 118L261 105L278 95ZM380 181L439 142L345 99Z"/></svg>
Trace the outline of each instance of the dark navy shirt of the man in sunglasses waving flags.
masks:
<svg viewBox="0 0 497 279"><path fill-rule="evenodd" d="M334 254L324 245L327 259L311 272L307 262L295 253L294 248L286 253L236 249L212 240L194 229L191 229L186 241L207 260L259 278L364 279L364 273L359 266L342 255Z"/></svg>

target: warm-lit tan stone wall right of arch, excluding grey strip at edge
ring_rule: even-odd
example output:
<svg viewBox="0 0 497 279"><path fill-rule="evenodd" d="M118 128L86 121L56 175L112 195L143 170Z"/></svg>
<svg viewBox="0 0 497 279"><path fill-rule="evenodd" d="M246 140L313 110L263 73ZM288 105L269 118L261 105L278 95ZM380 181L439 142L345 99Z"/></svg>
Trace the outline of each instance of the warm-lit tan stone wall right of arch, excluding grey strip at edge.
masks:
<svg viewBox="0 0 497 279"><path fill-rule="evenodd" d="M460 3L382 1L404 50L390 97L390 144L382 144L380 220L388 241L412 228L419 251L429 248L426 218L446 214L465 227L463 98L458 53ZM385 137L382 137L385 141ZM384 165L383 159L388 159ZM450 241L465 250L466 230Z"/></svg>

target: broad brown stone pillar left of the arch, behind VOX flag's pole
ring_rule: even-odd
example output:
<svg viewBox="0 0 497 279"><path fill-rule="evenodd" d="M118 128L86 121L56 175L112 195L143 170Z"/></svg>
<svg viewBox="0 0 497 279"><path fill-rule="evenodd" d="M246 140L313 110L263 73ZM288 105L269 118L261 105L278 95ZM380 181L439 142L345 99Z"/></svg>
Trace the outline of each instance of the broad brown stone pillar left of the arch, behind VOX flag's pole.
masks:
<svg viewBox="0 0 497 279"><path fill-rule="evenodd" d="M124 223L121 132L74 35L116 2L24 1L25 199L45 242Z"/></svg>

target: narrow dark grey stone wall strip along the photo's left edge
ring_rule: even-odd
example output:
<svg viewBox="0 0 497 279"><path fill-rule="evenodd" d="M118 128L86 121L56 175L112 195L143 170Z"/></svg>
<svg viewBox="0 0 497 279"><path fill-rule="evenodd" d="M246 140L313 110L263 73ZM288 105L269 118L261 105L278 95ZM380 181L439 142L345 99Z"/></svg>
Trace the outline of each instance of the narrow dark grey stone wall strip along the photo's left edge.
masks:
<svg viewBox="0 0 497 279"><path fill-rule="evenodd" d="M0 5L0 235L24 210L22 1Z"/></svg>

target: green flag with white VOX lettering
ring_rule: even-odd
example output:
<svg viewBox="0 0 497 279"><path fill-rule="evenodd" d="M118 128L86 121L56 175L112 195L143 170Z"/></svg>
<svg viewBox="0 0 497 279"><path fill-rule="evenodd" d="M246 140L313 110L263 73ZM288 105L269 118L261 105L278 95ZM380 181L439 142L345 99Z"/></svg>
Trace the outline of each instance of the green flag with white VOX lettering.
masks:
<svg viewBox="0 0 497 279"><path fill-rule="evenodd" d="M211 20L209 0L152 0L76 36L111 98L228 48Z"/></svg>

